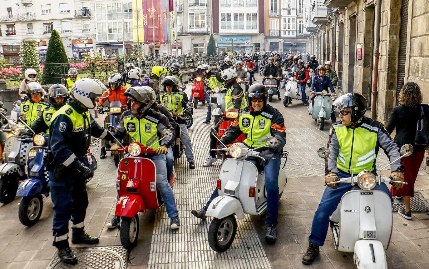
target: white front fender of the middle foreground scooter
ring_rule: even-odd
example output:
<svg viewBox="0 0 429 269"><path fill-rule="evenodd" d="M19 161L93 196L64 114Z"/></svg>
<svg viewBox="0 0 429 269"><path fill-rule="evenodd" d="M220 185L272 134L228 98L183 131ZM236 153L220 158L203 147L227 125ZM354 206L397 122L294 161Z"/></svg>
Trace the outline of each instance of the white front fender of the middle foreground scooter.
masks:
<svg viewBox="0 0 429 269"><path fill-rule="evenodd" d="M213 218L225 218L229 215L236 215L239 220L244 219L243 207L240 200L233 196L222 195L211 201L205 215Z"/></svg>

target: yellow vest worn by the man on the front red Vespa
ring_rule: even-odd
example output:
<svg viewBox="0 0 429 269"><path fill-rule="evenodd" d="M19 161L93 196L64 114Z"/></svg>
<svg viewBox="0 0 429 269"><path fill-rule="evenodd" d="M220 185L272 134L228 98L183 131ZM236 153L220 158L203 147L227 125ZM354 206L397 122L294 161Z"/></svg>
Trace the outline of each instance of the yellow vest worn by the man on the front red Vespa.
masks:
<svg viewBox="0 0 429 269"><path fill-rule="evenodd" d="M152 118L153 121L148 120L147 118L137 118L132 115L124 117L124 127L127 130L127 133L131 136L133 141L140 142L146 148L152 145L158 140L157 134L157 121ZM151 146L153 149L160 147L159 142Z"/></svg>

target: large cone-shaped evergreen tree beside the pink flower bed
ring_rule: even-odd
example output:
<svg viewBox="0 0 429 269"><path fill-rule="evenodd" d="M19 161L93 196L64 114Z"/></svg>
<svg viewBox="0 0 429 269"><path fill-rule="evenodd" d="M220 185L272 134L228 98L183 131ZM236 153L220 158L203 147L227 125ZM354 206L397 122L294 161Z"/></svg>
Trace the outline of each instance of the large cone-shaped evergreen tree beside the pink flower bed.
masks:
<svg viewBox="0 0 429 269"><path fill-rule="evenodd" d="M62 74L66 74L69 68L69 60L63 42L58 32L53 30L43 66L43 84L61 83Z"/></svg>

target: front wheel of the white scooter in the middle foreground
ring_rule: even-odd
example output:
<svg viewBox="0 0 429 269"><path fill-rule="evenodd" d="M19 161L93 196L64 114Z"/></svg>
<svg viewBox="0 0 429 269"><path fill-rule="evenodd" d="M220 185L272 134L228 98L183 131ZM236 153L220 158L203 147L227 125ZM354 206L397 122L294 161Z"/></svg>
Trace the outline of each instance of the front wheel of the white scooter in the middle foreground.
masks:
<svg viewBox="0 0 429 269"><path fill-rule="evenodd" d="M213 218L208 228L208 245L214 251L223 252L230 248L236 237L237 221L234 215Z"/></svg>

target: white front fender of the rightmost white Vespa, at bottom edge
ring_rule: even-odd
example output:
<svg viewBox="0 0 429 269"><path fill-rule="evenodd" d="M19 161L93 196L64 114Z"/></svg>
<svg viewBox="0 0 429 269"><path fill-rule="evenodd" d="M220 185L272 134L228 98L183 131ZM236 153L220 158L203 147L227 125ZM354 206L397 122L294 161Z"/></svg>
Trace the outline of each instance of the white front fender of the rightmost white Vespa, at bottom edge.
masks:
<svg viewBox="0 0 429 269"><path fill-rule="evenodd" d="M358 269L387 268L383 244L378 240L362 239L354 244L353 262Z"/></svg>

